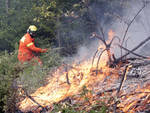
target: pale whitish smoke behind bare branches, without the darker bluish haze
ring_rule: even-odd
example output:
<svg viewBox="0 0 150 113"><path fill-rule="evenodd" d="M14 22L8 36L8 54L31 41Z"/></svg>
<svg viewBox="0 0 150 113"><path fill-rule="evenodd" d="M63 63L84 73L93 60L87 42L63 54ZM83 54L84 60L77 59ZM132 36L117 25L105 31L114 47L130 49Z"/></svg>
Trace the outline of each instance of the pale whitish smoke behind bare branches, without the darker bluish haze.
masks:
<svg viewBox="0 0 150 113"><path fill-rule="evenodd" d="M122 14L121 18L116 18L115 21L112 19L113 22L109 22L112 24L109 24L109 23L105 24L105 22L103 20L101 20L100 21L101 27L103 27L103 29L105 30L104 31L105 36L106 36L105 38L107 39L107 37L108 37L107 33L111 29L113 32L115 32L115 35L117 35L122 40L123 36L125 34L125 31L127 29L126 23L130 23L131 20L137 14L137 12L143 7L143 5L144 5L143 1L144 0L127 0L126 2L124 2L125 4L121 4L121 2L120 2L120 5L122 5L122 7L123 7L123 10L122 10L123 14ZM94 6L92 6L92 8L93 7ZM96 7L96 11L97 10L98 10L98 7ZM100 8L99 10L102 10L102 8ZM99 11L97 11L97 12L99 12ZM140 14L138 14L138 16L135 18L135 20L130 25L129 30L126 35L126 40L127 39L128 40L124 41L124 45L123 45L124 47L127 47L129 50L131 50L134 47L136 47L141 41L143 41L148 36L150 36L150 15L149 14L150 14L150 5L146 4L146 7L140 12ZM115 41L115 43L116 43L116 41ZM88 46L81 45L78 49L77 54L73 58L71 58L71 60L72 61L78 60L78 62L81 62L83 60L87 60L88 58L93 57L98 46L99 46L98 39L93 41L93 43L91 43ZM150 49L150 46L148 46L147 48ZM113 46L113 50L115 52L116 57L119 57L120 56L120 48L117 46L115 46L115 47ZM142 51L142 54L144 54L144 51L146 51L146 49L139 48L136 52L139 53L141 51ZM150 55L150 52L148 52L148 53Z"/></svg>

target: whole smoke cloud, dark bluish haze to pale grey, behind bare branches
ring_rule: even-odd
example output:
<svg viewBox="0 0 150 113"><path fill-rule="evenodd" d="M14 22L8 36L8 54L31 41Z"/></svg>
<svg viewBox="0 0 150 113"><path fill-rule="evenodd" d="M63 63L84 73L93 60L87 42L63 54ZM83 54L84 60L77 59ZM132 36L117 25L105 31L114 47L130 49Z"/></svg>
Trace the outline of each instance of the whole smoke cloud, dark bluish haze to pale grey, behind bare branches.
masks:
<svg viewBox="0 0 150 113"><path fill-rule="evenodd" d="M121 40L124 37L125 31L128 27L127 24L135 17L137 12L143 7L144 0L115 0L115 1L102 1L98 3L92 3L89 5L89 19L92 22L95 22L95 28L89 31L97 32L102 36L100 27L104 31L105 39L108 39L108 31L112 30L115 32L115 35L118 36ZM138 14L135 20L130 25L126 39L123 46L128 49L132 49L137 46L141 41L150 36L150 16L149 16L150 5L146 4L146 7ZM80 29L80 28L79 28ZM80 34L84 32L80 29ZM75 35L79 34L77 31L74 31ZM90 40L90 43L82 44L78 47L77 54L71 58L73 61L78 60L81 62L91 58L96 52L99 46L99 40L91 40L90 32L86 32L88 36L87 40ZM114 43L118 43L115 41ZM145 48L150 48L146 46L142 49L139 49L136 52L146 51ZM120 56L120 48L113 46L113 52L117 57ZM125 51L124 51L125 53ZM150 52L149 52L150 53Z"/></svg>

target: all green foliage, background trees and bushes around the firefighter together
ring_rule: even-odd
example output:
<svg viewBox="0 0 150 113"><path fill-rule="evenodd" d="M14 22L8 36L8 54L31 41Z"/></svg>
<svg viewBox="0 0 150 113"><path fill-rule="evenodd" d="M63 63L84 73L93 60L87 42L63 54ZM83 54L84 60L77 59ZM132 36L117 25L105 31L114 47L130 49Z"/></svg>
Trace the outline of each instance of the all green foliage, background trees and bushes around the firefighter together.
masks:
<svg viewBox="0 0 150 113"><path fill-rule="evenodd" d="M8 1L7 12L4 5L6 0L0 0L0 112L13 111L17 102L14 98L16 86L28 89L29 93L40 87L48 72L61 64L61 55L73 55L84 42L89 44L89 35L98 27L96 20L106 20L103 23L107 25L112 16L107 19L106 13L121 13L118 4L122 3L119 0ZM36 45L49 48L48 53L39 55L43 67L29 63L22 65L17 60L15 50L31 24L38 27ZM83 88L82 96L85 97L85 101L88 101L87 93L89 91L86 87ZM68 113L75 112L70 106L58 106L59 109ZM105 105L101 107L101 111L106 111Z"/></svg>

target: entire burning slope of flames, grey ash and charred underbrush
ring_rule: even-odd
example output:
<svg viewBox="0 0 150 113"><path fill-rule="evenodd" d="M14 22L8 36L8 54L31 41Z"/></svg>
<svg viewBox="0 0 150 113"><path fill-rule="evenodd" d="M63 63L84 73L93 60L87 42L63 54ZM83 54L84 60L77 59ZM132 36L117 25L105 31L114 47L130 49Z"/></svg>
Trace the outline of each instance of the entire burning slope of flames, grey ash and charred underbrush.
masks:
<svg viewBox="0 0 150 113"><path fill-rule="evenodd" d="M59 103L75 111L99 111L104 106L106 112L150 111L150 61L134 60L115 68L106 66L105 59L101 62L98 69L95 64L91 68L91 60L80 65L64 64L47 79L46 86L27 95L19 109L53 111L53 105Z"/></svg>

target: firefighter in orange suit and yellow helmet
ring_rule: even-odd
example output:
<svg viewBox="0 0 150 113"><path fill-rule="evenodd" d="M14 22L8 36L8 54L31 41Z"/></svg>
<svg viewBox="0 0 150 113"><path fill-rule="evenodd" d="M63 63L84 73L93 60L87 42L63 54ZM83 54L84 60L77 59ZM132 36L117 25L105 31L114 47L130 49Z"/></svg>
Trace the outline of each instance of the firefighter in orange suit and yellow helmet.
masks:
<svg viewBox="0 0 150 113"><path fill-rule="evenodd" d="M27 29L27 33L20 39L19 42L19 51L18 51L18 60L21 63L24 62L38 62L42 65L42 61L34 55L34 53L45 53L47 49L37 48L34 45L34 38L36 35L37 27L35 25L30 25Z"/></svg>

